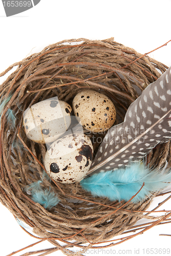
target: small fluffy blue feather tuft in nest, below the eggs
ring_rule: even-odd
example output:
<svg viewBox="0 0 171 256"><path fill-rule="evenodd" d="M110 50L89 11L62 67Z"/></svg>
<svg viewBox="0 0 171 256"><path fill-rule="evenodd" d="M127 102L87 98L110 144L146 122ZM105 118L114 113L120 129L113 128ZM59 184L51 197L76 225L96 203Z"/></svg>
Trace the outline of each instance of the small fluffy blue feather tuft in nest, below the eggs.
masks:
<svg viewBox="0 0 171 256"><path fill-rule="evenodd" d="M51 209L60 201L56 194L53 191L51 192L50 189L34 191L32 199L35 203L39 203L47 209Z"/></svg>

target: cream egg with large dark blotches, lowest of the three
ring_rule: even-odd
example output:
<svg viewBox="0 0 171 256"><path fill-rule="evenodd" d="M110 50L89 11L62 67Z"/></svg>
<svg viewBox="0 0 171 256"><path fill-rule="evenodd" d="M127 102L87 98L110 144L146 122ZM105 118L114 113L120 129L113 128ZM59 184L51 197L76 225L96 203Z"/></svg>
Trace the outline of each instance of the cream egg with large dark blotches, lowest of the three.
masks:
<svg viewBox="0 0 171 256"><path fill-rule="evenodd" d="M54 141L48 148L44 164L55 181L73 183L81 181L93 160L93 145L83 133L70 134Z"/></svg>

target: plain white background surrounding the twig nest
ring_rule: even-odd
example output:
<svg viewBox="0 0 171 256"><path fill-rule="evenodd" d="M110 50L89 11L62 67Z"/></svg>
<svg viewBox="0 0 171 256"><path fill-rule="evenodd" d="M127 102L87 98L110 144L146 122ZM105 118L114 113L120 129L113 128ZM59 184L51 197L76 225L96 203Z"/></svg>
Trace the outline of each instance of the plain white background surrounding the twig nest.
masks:
<svg viewBox="0 0 171 256"><path fill-rule="evenodd" d="M144 54L171 39L170 10L170 0L105 0L103 2L41 0L37 6L28 11L6 17L3 4L0 2L0 73L12 63L63 39L114 37L121 44ZM171 42L150 56L168 67L171 66ZM4 78L0 78L0 82L3 80ZM155 205L160 200L156 199ZM161 207L168 210L170 208L170 201ZM1 204L0 226L2 256L37 242L20 228L12 214ZM121 255L131 254L126 251L129 249L132 250L132 255L136 255L135 249L137 254L139 252L141 255L147 255L143 248L170 248L171 255L171 237L159 236L161 233L171 234L170 227L170 224L154 227L141 236L112 249L115 249L116 253L119 249L124 250ZM26 251L48 247L53 245L43 242ZM24 252L15 255L19 256ZM98 251L99 255L105 252L112 255L109 250ZM92 253L93 251L89 252ZM57 251L51 255L63 254ZM164 253L155 255L164 255Z"/></svg>

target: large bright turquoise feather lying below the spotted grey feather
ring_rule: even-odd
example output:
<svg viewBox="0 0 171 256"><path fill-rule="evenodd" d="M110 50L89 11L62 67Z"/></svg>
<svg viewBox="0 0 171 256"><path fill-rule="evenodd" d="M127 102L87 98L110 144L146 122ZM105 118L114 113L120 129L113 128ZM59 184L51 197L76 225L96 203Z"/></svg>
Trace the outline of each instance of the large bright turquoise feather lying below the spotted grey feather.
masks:
<svg viewBox="0 0 171 256"><path fill-rule="evenodd" d="M171 182L170 169L151 169L142 162L125 168L100 172L80 181L83 189L93 196L107 197L111 201L129 201L145 183L132 202L142 202Z"/></svg>

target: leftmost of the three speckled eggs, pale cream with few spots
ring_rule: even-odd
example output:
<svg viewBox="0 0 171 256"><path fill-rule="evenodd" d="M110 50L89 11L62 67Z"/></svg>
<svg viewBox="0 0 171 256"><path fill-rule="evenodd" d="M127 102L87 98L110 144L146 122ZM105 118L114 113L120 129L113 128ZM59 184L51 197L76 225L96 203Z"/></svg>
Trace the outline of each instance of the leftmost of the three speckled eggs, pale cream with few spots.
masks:
<svg viewBox="0 0 171 256"><path fill-rule="evenodd" d="M71 106L57 97L40 101L24 112L26 135L37 143L51 143L71 124Z"/></svg>

